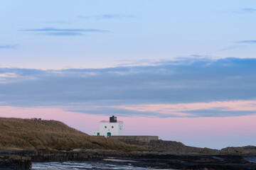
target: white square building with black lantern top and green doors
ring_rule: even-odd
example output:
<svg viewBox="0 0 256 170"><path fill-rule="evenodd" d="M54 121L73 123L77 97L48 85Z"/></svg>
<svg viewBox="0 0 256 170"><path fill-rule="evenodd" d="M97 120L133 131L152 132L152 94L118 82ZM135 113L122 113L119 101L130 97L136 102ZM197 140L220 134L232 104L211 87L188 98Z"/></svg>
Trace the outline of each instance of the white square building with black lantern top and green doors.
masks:
<svg viewBox="0 0 256 170"><path fill-rule="evenodd" d="M117 117L110 117L110 121L100 121L100 130L93 131L94 136L120 136L123 134L123 122L117 121Z"/></svg>

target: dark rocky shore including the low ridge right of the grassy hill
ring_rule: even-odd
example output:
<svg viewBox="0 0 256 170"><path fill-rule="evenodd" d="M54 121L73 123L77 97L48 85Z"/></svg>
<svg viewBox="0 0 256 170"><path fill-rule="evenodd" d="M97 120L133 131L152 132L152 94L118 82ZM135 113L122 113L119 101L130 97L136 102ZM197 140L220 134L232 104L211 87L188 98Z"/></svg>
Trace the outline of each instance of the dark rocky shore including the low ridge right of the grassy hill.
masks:
<svg viewBox="0 0 256 170"><path fill-rule="evenodd" d="M115 166L146 169L239 169L256 170L256 147L208 149L188 147L181 142L151 140L123 141L154 152L128 152L110 149L0 150L0 169L31 169L31 162L100 162ZM156 150L158 150L156 152Z"/></svg>

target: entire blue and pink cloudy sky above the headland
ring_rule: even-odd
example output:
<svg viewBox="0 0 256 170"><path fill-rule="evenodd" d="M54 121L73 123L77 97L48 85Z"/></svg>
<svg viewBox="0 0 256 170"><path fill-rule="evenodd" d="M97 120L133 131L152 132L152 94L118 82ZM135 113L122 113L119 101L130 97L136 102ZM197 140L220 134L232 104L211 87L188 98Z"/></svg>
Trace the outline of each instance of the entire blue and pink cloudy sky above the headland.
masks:
<svg viewBox="0 0 256 170"><path fill-rule="evenodd" d="M254 0L1 0L0 116L256 145Z"/></svg>

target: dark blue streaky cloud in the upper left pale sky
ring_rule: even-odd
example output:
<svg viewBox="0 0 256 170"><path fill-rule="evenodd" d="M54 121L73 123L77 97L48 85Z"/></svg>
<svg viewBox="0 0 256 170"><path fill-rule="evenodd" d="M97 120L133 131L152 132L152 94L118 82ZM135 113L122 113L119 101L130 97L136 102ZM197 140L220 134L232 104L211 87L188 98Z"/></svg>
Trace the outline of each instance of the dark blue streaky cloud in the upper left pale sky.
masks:
<svg viewBox="0 0 256 170"><path fill-rule="evenodd" d="M108 33L110 30L100 30L100 29L83 29L83 28L38 28L38 29L25 29L21 31L36 32L43 35L83 35L83 33Z"/></svg>

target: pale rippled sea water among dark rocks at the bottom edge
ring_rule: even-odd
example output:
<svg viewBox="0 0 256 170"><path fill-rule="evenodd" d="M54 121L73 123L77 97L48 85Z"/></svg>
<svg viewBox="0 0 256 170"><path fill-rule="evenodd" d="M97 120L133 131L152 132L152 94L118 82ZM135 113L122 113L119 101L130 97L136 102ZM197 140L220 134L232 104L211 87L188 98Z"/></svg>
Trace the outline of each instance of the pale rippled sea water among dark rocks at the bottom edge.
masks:
<svg viewBox="0 0 256 170"><path fill-rule="evenodd" d="M136 167L132 164L120 165L120 164L106 164L103 162L43 162L33 163L32 170L44 170L44 169L149 169Z"/></svg>

